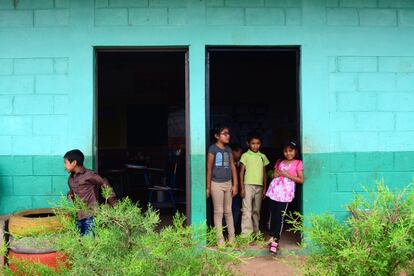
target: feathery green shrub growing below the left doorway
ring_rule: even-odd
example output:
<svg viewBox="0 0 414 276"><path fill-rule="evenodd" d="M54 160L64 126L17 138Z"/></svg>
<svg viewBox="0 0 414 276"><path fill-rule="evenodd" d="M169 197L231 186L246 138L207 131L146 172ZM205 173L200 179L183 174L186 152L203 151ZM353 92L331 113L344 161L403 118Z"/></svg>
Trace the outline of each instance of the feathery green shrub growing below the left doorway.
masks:
<svg viewBox="0 0 414 276"><path fill-rule="evenodd" d="M186 226L185 217L176 214L173 223L157 232L157 211L142 209L130 199L114 207L98 205L94 210L94 235L80 237L75 227L77 211L82 208L63 200L57 214L64 225L55 235L53 247L68 261L53 272L44 266L16 263L17 269L39 275L230 275L231 263L245 252L239 241L235 247L213 249L203 245L211 235L205 226ZM6 269L6 274L11 273Z"/></svg>

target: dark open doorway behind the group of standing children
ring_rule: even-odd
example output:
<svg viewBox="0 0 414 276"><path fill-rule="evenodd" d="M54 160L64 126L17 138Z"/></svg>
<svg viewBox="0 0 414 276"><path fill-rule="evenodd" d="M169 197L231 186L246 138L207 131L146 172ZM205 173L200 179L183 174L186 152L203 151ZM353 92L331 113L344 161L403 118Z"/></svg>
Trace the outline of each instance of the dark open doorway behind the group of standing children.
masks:
<svg viewBox="0 0 414 276"><path fill-rule="evenodd" d="M259 133L260 151L270 160L267 170L273 169L283 158L283 142L301 141L299 47L207 47L206 65L207 141L213 142L211 131L215 126L226 125L231 143L245 151L249 133ZM296 187L289 211L302 211L302 186ZM212 221L211 213L207 206L208 221ZM264 201L264 233L268 217Z"/></svg>

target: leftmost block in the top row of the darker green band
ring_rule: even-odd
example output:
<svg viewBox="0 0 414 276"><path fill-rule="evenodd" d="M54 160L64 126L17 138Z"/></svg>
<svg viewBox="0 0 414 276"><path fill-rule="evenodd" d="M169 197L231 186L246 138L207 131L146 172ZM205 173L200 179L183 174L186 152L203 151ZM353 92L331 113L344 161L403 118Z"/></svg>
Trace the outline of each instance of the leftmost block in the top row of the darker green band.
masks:
<svg viewBox="0 0 414 276"><path fill-rule="evenodd" d="M33 175L31 156L1 156L0 175Z"/></svg>

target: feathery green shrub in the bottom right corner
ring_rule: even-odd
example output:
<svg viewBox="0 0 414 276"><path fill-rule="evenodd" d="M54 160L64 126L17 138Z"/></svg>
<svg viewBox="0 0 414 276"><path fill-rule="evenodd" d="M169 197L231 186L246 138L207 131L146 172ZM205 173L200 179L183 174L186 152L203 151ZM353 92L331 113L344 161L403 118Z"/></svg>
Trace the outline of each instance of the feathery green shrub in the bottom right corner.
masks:
<svg viewBox="0 0 414 276"><path fill-rule="evenodd" d="M414 275L414 190L393 192L383 182L368 197L357 196L343 223L332 215L288 215L293 231L305 235L305 274ZM297 217L300 219L298 220Z"/></svg>

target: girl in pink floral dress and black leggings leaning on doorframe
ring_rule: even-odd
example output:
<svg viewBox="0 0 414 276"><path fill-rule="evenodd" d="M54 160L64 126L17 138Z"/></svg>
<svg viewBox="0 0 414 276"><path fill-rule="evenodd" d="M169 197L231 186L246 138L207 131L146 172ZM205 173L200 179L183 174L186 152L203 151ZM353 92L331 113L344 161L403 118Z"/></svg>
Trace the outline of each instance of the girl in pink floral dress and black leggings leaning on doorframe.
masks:
<svg viewBox="0 0 414 276"><path fill-rule="evenodd" d="M266 196L270 198L270 240L269 251L276 254L280 235L283 230L283 217L290 202L295 197L296 183L303 184L303 164L297 160L297 144L289 141L283 146L285 159L276 162L273 180L269 185Z"/></svg>

